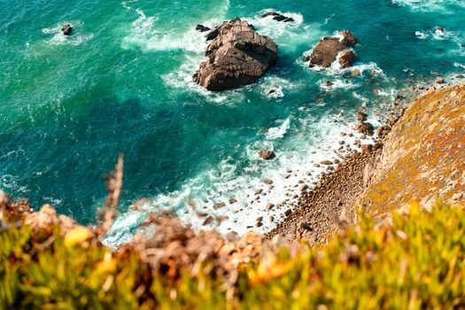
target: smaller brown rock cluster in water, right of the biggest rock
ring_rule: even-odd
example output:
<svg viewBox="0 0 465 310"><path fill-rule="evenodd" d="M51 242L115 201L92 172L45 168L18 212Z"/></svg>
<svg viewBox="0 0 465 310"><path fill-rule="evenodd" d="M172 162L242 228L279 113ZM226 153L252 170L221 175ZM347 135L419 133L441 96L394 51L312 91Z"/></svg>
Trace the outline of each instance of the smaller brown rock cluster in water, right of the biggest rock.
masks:
<svg viewBox="0 0 465 310"><path fill-rule="evenodd" d="M306 58L306 61L310 60L310 66L324 66L329 67L336 60L337 54L340 51L346 50L349 46L357 44L355 35L345 30L342 31L339 37L325 37L316 46L312 55ZM349 57L349 60L355 60L355 54L345 51L345 57ZM347 55L348 53L348 55ZM352 58L353 57L353 58ZM344 60L342 66L352 66L351 61ZM350 65L349 65L350 64Z"/></svg>

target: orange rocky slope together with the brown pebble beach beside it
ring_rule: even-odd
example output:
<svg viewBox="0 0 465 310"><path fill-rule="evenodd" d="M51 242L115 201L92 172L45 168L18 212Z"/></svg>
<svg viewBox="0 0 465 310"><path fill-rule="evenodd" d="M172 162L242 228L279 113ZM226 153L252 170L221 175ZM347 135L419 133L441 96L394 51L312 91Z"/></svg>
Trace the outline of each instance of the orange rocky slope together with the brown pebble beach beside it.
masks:
<svg viewBox="0 0 465 310"><path fill-rule="evenodd" d="M357 219L360 209L384 215L412 200L465 200L465 84L432 87L407 108L374 147L354 153L301 194L298 209L267 236L322 243Z"/></svg>

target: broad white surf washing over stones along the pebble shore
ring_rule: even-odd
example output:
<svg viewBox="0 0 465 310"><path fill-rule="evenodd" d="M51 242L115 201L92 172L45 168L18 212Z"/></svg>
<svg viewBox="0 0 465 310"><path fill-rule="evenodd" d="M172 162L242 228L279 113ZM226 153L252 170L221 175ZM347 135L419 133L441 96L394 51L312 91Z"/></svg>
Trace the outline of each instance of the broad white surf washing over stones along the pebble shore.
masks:
<svg viewBox="0 0 465 310"><path fill-rule="evenodd" d="M376 120L369 121L376 124ZM323 159L337 159L339 141L344 140L356 149L353 143L360 139L360 134L353 131L353 125L353 115L344 114L335 116L328 113L321 120L316 120L308 113L303 118L290 115L279 120L277 126L269 128L267 133L258 133L257 140L248 144L237 159L226 157L218 165L183 182L180 190L151 198L142 210L120 214L107 243L117 246L128 241L131 229L135 229L148 213L160 209L174 211L181 221L194 229L217 229L222 233L234 231L238 234L273 229L275 223L283 219L286 210L297 207L302 186L299 181L314 186L326 170L323 166L316 167L317 164ZM353 133L353 136L342 137L341 131ZM368 139L361 141L373 143ZM262 149L275 151L276 158L269 161L260 159L258 153ZM273 184L265 184L264 179L272 180ZM229 204L230 198L236 202ZM283 202L287 205L276 206ZM215 209L218 203L225 205ZM275 206L267 210L267 204ZM199 217L198 212L214 217L226 216L226 220L204 226L205 217ZM270 216L275 221L268 220ZM255 223L259 217L264 219L263 227L257 228Z"/></svg>

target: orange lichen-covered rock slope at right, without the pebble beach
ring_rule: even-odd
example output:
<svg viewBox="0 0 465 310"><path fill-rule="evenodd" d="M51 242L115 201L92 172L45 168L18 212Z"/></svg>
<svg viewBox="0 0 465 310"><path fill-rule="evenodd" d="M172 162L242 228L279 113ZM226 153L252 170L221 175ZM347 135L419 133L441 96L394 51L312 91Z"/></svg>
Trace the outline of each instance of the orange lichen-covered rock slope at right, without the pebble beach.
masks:
<svg viewBox="0 0 465 310"><path fill-rule="evenodd" d="M389 211L418 200L465 199L465 84L419 97L392 128L376 182L358 205Z"/></svg>

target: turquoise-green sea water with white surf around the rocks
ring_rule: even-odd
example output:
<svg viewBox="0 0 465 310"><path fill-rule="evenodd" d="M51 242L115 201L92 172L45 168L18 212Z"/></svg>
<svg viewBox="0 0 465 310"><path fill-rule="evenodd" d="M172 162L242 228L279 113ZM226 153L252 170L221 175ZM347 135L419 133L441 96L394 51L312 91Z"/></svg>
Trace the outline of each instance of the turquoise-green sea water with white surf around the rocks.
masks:
<svg viewBox="0 0 465 310"><path fill-rule="evenodd" d="M295 22L261 19L268 10ZM366 107L379 126L399 89L463 72L464 14L462 0L0 0L0 188L91 224L122 152L113 242L158 207L194 225L186 205L227 214L220 229L244 232L267 202L314 180L313 162L334 156L354 112ZM206 46L195 26L235 17L278 43L278 64L255 85L209 93L190 79ZM309 69L303 55L343 29L360 40L356 66ZM259 160L262 148L277 159ZM251 204L266 177L275 189ZM149 203L129 208L140 198Z"/></svg>

